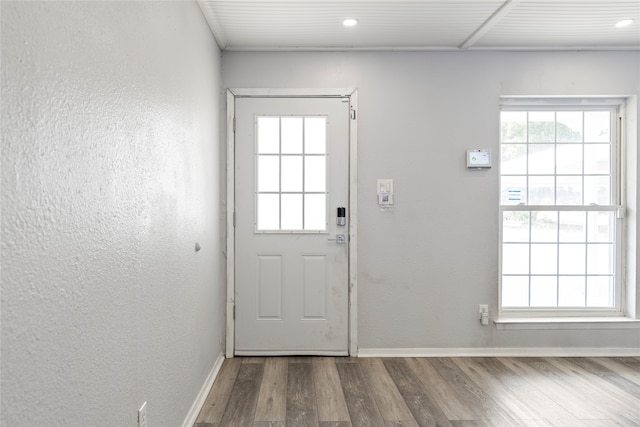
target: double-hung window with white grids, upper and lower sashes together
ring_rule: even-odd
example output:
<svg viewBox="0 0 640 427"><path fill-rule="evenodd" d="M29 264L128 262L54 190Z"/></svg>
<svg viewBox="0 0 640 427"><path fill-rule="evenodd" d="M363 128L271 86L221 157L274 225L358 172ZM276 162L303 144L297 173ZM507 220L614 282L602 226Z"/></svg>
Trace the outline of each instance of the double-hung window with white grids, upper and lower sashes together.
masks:
<svg viewBox="0 0 640 427"><path fill-rule="evenodd" d="M617 109L520 104L500 112L501 313L618 314Z"/></svg>

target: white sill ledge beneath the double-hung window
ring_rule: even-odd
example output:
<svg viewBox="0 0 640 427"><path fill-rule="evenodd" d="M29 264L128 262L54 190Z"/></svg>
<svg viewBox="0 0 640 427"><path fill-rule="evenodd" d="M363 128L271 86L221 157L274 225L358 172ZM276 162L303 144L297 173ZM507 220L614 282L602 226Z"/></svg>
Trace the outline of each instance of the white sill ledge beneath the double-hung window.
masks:
<svg viewBox="0 0 640 427"><path fill-rule="evenodd" d="M493 323L498 330L640 328L640 319L628 317L500 317Z"/></svg>

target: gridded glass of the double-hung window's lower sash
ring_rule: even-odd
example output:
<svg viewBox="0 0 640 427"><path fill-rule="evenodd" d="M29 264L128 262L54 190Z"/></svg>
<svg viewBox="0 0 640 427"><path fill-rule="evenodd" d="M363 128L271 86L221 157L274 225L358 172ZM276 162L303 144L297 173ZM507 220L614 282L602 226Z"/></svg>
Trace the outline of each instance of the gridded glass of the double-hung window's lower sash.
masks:
<svg viewBox="0 0 640 427"><path fill-rule="evenodd" d="M615 216L614 211L503 212L503 307L612 308L615 291L609 283L615 277ZM560 218L559 224L554 218ZM595 231L585 233L584 228ZM576 243L580 240L583 243ZM525 285L518 277L528 277L530 282ZM523 304L523 287L528 288L527 304Z"/></svg>

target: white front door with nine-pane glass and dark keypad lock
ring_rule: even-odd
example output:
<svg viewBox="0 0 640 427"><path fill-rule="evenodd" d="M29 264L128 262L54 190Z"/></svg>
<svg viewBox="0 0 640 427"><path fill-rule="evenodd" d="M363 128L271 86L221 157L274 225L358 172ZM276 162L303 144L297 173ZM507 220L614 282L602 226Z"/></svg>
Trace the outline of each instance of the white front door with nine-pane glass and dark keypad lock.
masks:
<svg viewBox="0 0 640 427"><path fill-rule="evenodd" d="M235 354L347 355L349 99L236 98L235 118Z"/></svg>

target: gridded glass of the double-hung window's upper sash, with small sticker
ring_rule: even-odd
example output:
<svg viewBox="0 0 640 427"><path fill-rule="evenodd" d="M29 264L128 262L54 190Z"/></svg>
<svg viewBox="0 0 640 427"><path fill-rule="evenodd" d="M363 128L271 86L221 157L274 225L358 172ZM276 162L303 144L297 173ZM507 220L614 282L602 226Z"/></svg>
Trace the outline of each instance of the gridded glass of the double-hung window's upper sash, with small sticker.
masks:
<svg viewBox="0 0 640 427"><path fill-rule="evenodd" d="M501 116L501 204L612 204L610 111L516 113Z"/></svg>

